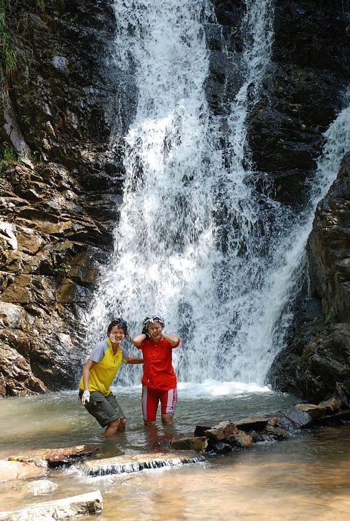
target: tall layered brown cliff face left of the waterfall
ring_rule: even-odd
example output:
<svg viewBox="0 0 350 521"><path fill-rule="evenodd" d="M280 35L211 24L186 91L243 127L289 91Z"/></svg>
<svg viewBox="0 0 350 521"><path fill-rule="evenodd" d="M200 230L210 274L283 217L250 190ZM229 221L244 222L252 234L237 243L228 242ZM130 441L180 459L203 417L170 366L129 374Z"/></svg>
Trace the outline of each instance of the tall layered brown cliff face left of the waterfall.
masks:
<svg viewBox="0 0 350 521"><path fill-rule="evenodd" d="M122 171L106 149L123 103L104 59L110 2L4 5L17 64L9 73L2 57L0 396L77 383L118 217Z"/></svg>

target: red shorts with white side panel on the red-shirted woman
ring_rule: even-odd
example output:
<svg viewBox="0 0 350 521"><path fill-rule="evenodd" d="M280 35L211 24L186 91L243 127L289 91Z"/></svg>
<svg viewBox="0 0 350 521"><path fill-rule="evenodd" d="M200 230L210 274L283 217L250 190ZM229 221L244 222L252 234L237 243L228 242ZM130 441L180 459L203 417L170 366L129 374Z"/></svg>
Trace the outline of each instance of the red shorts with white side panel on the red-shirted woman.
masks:
<svg viewBox="0 0 350 521"><path fill-rule="evenodd" d="M161 414L174 414L178 391L174 389L151 389L147 385L142 386L142 414L146 422L156 421L156 411L161 402Z"/></svg>

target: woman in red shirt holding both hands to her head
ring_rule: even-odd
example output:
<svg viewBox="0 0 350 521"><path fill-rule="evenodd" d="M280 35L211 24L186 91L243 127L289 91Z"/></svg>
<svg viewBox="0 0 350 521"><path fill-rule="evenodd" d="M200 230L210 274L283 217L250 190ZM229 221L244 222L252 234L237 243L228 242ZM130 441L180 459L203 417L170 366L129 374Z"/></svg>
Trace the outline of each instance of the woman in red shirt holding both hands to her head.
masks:
<svg viewBox="0 0 350 521"><path fill-rule="evenodd" d="M161 421L172 424L178 398L172 350L180 345L180 339L164 332L163 318L149 315L143 320L141 335L134 337L132 343L143 354L143 421L145 425L156 423L156 411L161 402Z"/></svg>

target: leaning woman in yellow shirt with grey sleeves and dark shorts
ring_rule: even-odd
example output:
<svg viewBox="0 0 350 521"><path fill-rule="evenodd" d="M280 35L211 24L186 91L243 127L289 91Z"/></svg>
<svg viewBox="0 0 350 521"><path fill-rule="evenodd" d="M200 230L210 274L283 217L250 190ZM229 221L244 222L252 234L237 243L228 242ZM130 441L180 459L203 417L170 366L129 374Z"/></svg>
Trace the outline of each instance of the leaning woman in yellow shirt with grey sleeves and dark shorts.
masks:
<svg viewBox="0 0 350 521"><path fill-rule="evenodd" d="M110 390L121 363L143 363L137 356L126 356L120 342L128 335L128 326L122 318L110 322L106 339L97 343L82 369L79 398L102 427L104 435L111 437L124 431L126 417Z"/></svg>

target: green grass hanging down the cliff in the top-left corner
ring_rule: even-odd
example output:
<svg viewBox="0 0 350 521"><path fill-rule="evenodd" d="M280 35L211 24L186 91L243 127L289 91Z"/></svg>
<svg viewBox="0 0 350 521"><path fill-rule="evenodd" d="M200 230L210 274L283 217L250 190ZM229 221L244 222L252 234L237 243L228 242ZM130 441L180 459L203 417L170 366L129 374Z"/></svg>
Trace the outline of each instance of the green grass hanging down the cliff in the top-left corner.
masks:
<svg viewBox="0 0 350 521"><path fill-rule="evenodd" d="M8 20L14 16L15 0L0 0L0 64L5 75L12 78L17 66L17 51L14 38L8 27Z"/></svg>

